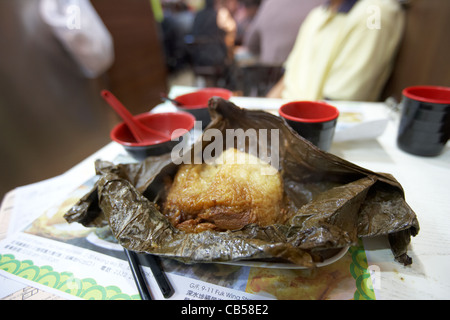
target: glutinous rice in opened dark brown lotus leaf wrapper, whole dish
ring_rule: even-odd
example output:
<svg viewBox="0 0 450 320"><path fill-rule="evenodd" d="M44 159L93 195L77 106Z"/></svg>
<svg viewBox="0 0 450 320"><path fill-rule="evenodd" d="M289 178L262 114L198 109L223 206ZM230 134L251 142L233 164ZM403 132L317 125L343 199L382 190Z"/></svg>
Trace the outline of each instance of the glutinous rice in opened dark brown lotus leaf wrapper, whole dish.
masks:
<svg viewBox="0 0 450 320"><path fill-rule="evenodd" d="M419 223L391 175L319 150L272 114L221 98L210 100L209 111L202 138L177 156L98 160L98 182L65 219L109 226L129 250L185 263L313 268L380 235L398 262L412 263L407 247ZM270 152L255 152L251 139L229 147L211 138L233 130L254 130L257 150ZM276 136L263 137L273 130Z"/></svg>

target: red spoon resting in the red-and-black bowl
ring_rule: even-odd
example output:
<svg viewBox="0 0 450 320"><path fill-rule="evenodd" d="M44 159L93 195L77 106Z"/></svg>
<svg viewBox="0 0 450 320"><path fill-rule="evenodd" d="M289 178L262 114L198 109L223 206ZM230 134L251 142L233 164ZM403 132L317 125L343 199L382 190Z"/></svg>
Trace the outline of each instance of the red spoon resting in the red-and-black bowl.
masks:
<svg viewBox="0 0 450 320"><path fill-rule="evenodd" d="M125 108L125 106L108 90L102 90L101 95L103 99L105 99L114 111L116 111L117 114L123 119L136 141L156 144L170 140L169 135L149 128L142 124L139 120L136 120L128 109Z"/></svg>

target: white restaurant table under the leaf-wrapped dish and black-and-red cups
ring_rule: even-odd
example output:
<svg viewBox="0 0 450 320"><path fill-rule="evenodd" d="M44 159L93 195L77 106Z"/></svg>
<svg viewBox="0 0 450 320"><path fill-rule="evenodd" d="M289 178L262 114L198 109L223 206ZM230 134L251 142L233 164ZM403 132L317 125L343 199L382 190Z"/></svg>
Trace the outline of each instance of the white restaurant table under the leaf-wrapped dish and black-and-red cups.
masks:
<svg viewBox="0 0 450 320"><path fill-rule="evenodd" d="M195 88L173 87L169 96L173 98L178 94L193 90ZM277 114L276 110L278 107L286 102L281 99L249 97L232 97L231 101L243 108L265 109L273 114ZM419 234L411 239L411 244L409 245L408 254L413 261L412 265L409 266L403 266L394 261L387 237L362 240L366 258L364 261L367 264L374 293L372 298L449 299L450 275L447 269L450 266L450 147L447 145L442 154L437 157L419 157L405 153L396 145L399 123L398 111L393 110L385 103L344 101L333 101L329 103L334 104L341 111L342 119L349 114L355 116L357 113L355 110L364 110L369 115L371 112L379 115L381 110L384 118L381 117L382 119L376 119L374 121L370 119L366 122L362 121L358 129L360 131L352 132L352 129L350 129L347 131L347 134L345 132L342 134L339 131L345 130L342 129L342 126L339 129L338 121L337 139L333 142L329 152L369 170L392 174L403 186L406 201L417 214L420 224ZM348 112L348 110L352 111ZM152 112L165 111L176 111L176 108L166 102L152 109ZM21 230L26 226L32 225L33 221L47 210L46 207L54 205L52 199L64 199L71 192L73 193L74 189L77 189L77 187L89 180L94 175L93 163L96 159L119 163L122 161L132 161L120 145L111 142L63 175L37 184L16 188L5 196L0 212L0 237L3 238L0 242L0 298L6 299L17 296L25 298L26 294L30 290L33 290L33 288L38 288L39 290L36 290L41 294L47 293L53 298L80 298L79 295L76 296L69 290L71 289L70 286L69 289L62 290L60 285L55 290L55 287L50 288L51 285L48 282L39 281L39 283L35 283L36 279L30 280L32 275L28 275L27 277L23 274L18 275L17 271L14 271L18 267L14 267L16 269L12 267L12 269L8 269L5 265L6 262L14 261L15 264L21 264L23 266L28 262L30 264L28 269L35 267L34 269L40 269L42 273L43 266L46 265L46 262L48 262L48 265L52 265L53 262L56 264L58 257L61 256L61 253L58 251L59 247L57 248L55 245L54 252L52 252L52 246L48 245L45 249L47 251L45 252L45 257L42 258L37 255L36 251L45 251L44 249L37 247L34 251L30 248L30 250L26 250L28 248L27 246L31 246L29 243L31 241L30 239L33 240L35 238L28 239L28 237L31 237L29 235L30 232L22 233ZM88 189L83 190L83 192L86 192ZM79 196L80 193L78 192L75 198ZM46 201L47 198L48 201ZM52 236L48 237L51 238ZM72 247L73 245L68 248ZM27 253L31 255L30 259L27 259ZM84 252L80 251L80 256L77 257L77 262L85 264L94 263L90 261L92 258L82 259L82 257L91 257ZM48 261L45 259L48 259ZM114 260L114 263L117 263L118 270L124 268L124 265L116 262L116 260ZM115 270L114 263L111 262L111 265L106 265L103 262L104 265L102 265L101 271L108 271L105 270L107 268ZM95 264L91 269L93 270L94 267ZM52 272L55 273L56 271L55 267L53 267ZM125 273L125 271L123 272ZM57 276L58 280L61 281L63 273L60 272ZM207 281L193 284L193 280L189 284L186 284L191 286L190 289L184 289L184 287L180 289L182 287L177 282L183 281L182 279L185 278L181 278L175 273L168 273L168 276L169 280L175 285L175 290L184 290L184 298L189 294L194 295L194 291L200 290L201 285L203 285L203 288L209 290ZM79 280L81 278L87 279L86 275L71 278L72 285L75 286L75 282L81 281ZM42 279L42 277L39 279ZM97 280L97 285L98 282L99 280ZM126 290L133 291L135 288L133 288L130 276L126 277L126 282L128 283L115 284L115 287L127 288ZM246 286L248 289L248 284ZM225 285L211 284L211 287L216 288L216 290L220 287L226 291L224 289ZM122 293L126 290L122 289ZM227 299L232 297L236 298L235 295L241 292L242 297L240 298L247 297L251 299L252 295L245 291L244 286L244 289L241 291L222 292L222 294ZM155 295L156 298L161 298L157 296L157 293ZM134 291L131 296L137 298L136 292ZM255 297L259 299L262 297L267 298L268 296L270 295L260 293L260 295L256 294ZM181 299L183 297L175 296L174 298ZM192 296L190 297L192 298ZM196 293L194 295L194 298L202 297L210 296L198 295ZM339 298L339 295L336 297ZM81 298L87 298L87 296ZM274 298L274 296L272 295L269 298ZM275 298L280 297L275 296ZM284 298L289 298L289 296Z"/></svg>

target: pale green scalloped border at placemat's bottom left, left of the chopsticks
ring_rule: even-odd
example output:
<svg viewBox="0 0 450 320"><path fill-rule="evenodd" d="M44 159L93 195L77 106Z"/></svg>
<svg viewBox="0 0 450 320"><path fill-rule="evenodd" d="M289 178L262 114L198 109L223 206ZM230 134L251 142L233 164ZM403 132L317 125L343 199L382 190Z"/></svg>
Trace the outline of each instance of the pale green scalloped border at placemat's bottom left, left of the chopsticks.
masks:
<svg viewBox="0 0 450 320"><path fill-rule="evenodd" d="M31 260L16 260L12 254L0 254L0 270L87 300L139 300L116 286L103 287L92 278L78 279L71 272L56 272L50 266L38 267Z"/></svg>

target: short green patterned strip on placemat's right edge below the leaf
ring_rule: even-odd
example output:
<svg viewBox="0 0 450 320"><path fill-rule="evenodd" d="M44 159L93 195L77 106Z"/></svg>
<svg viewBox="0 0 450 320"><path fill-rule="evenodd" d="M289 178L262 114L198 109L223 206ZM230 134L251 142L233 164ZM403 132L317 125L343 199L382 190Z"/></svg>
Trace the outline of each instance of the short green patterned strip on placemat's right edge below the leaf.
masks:
<svg viewBox="0 0 450 320"><path fill-rule="evenodd" d="M355 279L356 284L356 291L353 295L353 299L375 300L375 291L373 290L366 252L364 251L362 243L360 242L359 246L350 247L348 251L352 255L350 273Z"/></svg>

